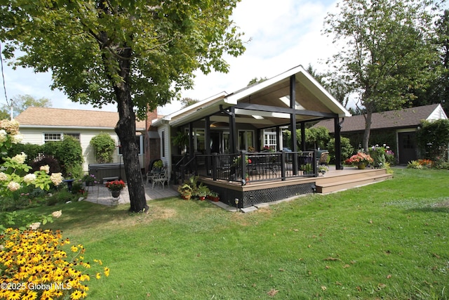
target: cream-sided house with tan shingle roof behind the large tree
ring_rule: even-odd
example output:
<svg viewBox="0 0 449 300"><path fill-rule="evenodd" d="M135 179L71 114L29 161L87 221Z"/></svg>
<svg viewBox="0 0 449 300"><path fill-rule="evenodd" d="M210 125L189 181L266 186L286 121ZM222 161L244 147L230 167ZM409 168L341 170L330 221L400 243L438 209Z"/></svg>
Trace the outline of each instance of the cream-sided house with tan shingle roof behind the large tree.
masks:
<svg viewBox="0 0 449 300"><path fill-rule="evenodd" d="M149 112L154 119L157 112ZM83 150L83 170L88 171L89 164L96 164L91 138L98 133L105 132L116 142L114 163L121 163L120 142L114 131L119 120L118 112L105 112L100 110L68 110L50 107L28 107L20 113L16 120L20 123L20 133L23 135L22 143L42 145L48 141L60 141L64 136L73 136L79 140ZM150 150L149 138L154 131L147 126L147 120L136 122L135 138L140 145L140 167L145 169L155 155L159 155L159 148ZM153 136L159 143L159 136ZM154 145L153 145L154 146Z"/></svg>

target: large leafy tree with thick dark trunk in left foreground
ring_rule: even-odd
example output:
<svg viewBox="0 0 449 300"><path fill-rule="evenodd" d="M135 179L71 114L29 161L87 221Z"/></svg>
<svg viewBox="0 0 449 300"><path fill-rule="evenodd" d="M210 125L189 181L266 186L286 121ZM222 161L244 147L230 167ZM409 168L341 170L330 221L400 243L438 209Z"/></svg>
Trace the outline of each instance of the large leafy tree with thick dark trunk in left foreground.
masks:
<svg viewBox="0 0 449 300"><path fill-rule="evenodd" d="M0 6L0 40L5 58L51 70L51 87L71 100L116 103L130 210L143 211L136 115L192 88L194 70L227 72L222 56L244 51L230 20L237 1L11 0Z"/></svg>

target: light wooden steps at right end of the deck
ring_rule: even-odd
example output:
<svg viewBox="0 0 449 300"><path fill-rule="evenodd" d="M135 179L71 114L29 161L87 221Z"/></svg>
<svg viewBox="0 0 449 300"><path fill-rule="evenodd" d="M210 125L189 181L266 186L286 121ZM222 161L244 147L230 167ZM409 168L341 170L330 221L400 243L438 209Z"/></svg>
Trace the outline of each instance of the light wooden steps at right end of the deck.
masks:
<svg viewBox="0 0 449 300"><path fill-rule="evenodd" d="M332 193L360 185L377 183L391 177L392 175L388 174L385 169L365 169L355 172L354 170L330 171L325 176L316 178L316 193Z"/></svg>

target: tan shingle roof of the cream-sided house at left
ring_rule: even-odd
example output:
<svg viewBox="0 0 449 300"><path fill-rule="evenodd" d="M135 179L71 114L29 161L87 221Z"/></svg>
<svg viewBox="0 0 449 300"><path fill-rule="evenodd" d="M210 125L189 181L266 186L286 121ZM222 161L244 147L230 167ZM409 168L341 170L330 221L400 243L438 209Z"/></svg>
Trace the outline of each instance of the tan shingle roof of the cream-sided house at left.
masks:
<svg viewBox="0 0 449 300"><path fill-rule="evenodd" d="M52 107L28 107L15 118L20 126L86 127L114 129L118 112L101 110L69 110ZM136 122L137 130L145 129L145 121Z"/></svg>

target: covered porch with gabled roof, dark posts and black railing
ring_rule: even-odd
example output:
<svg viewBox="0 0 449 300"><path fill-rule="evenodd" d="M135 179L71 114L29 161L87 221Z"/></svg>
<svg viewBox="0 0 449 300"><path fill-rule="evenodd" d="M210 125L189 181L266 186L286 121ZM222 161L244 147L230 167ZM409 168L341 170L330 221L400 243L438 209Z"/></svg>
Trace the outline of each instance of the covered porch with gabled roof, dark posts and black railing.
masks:
<svg viewBox="0 0 449 300"><path fill-rule="evenodd" d="M283 197L314 192L320 152L306 149L308 124L333 119L333 171L342 171L340 128L350 116L298 66L240 91L223 92L185 107L152 126L162 136L163 160L175 183L198 175L212 190L227 195L222 201L234 201L237 193L245 207L263 199L264 192L256 190L267 186L274 188L269 193ZM173 137L182 135L185 144L173 143Z"/></svg>

